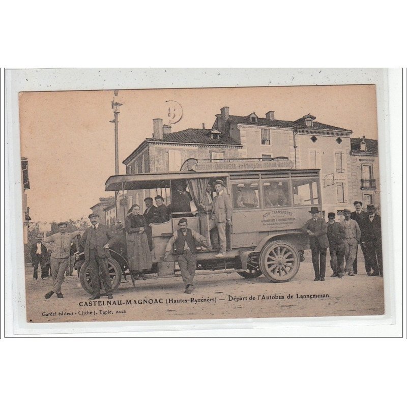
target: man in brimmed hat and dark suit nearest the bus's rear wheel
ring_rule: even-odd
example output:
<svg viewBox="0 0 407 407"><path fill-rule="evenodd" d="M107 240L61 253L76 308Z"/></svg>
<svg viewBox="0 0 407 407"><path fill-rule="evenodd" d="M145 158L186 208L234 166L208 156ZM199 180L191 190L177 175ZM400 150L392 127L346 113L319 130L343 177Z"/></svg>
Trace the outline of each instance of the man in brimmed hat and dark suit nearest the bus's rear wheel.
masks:
<svg viewBox="0 0 407 407"><path fill-rule="evenodd" d="M312 218L307 220L301 230L309 237L309 247L315 272L314 281L325 281L327 248L329 247L327 224L324 219L318 217L319 209L317 207L311 207L308 212Z"/></svg>

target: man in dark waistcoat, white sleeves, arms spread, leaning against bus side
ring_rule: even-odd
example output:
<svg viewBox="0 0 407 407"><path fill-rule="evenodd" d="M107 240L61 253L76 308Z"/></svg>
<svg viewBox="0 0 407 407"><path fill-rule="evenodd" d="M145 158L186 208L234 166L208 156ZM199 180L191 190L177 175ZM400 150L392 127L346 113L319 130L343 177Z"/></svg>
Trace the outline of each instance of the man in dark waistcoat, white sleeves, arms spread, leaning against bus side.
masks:
<svg viewBox="0 0 407 407"><path fill-rule="evenodd" d="M174 232L165 247L164 260L167 260L173 244L175 243L174 254L178 255L178 265L181 276L185 284L185 293L191 294L194 290L193 279L196 271L196 247L211 249L205 237L199 235L195 230L188 228L188 220L179 220L180 228Z"/></svg>

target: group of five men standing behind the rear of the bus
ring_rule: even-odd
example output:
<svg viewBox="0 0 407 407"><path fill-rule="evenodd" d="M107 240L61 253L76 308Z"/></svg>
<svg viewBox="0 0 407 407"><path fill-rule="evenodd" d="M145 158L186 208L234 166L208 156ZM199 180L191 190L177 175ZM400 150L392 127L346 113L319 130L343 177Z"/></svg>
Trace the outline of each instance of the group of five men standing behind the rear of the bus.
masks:
<svg viewBox="0 0 407 407"><path fill-rule="evenodd" d="M355 211L344 209L344 220L335 221L335 214L328 213L328 222L319 218L319 209L312 207L312 218L302 230L309 237L314 281L325 281L326 253L331 255L331 277L343 277L344 274L358 274L358 246L361 246L365 269L368 276L383 277L382 230L380 215L374 205L362 211L362 202L354 202Z"/></svg>

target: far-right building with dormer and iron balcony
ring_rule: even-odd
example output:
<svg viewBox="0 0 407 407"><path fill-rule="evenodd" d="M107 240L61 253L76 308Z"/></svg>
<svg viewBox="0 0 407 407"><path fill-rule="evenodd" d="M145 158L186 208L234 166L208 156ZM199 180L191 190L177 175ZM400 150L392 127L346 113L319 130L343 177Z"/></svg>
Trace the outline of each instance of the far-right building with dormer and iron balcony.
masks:
<svg viewBox="0 0 407 407"><path fill-rule="evenodd" d="M351 139L351 177L354 200L373 204L380 211L379 149L377 140L369 138Z"/></svg>

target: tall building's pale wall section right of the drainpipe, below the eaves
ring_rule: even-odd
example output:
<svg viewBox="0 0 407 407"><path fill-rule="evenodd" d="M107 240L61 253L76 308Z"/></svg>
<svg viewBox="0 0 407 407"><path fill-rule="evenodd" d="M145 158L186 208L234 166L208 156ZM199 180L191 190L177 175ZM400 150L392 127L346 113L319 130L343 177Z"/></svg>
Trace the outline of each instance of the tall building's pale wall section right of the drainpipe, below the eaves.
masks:
<svg viewBox="0 0 407 407"><path fill-rule="evenodd" d="M297 168L321 169L321 195L326 218L328 212L337 213L344 208L352 209L350 137L341 136L341 143L336 141L336 136L317 134L315 142L311 137L312 135L309 134L296 135ZM337 165L336 154L340 154L342 169ZM342 194L338 192L341 185L343 185L343 199Z"/></svg>

